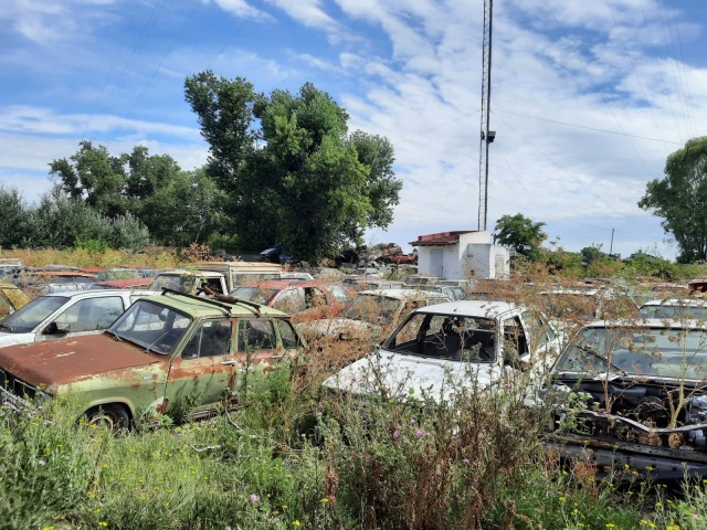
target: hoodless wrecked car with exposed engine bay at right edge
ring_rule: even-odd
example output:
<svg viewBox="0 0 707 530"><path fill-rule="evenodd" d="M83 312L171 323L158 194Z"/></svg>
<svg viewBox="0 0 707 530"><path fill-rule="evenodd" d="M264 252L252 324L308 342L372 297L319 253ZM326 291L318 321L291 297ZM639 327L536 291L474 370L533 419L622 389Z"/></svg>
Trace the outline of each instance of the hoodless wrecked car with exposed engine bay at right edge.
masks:
<svg viewBox="0 0 707 530"><path fill-rule="evenodd" d="M584 326L550 373L548 445L600 466L707 474L706 331L695 320Z"/></svg>

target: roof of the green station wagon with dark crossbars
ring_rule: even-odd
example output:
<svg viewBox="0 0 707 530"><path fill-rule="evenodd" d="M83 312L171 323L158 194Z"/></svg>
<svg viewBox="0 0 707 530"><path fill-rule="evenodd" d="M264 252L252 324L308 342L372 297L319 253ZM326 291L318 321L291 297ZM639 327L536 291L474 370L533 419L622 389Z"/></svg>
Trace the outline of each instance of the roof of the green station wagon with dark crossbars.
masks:
<svg viewBox="0 0 707 530"><path fill-rule="evenodd" d="M105 293L105 290L103 292ZM230 311L230 316L273 316L289 319L286 312L273 309L261 304L239 301L231 304L211 298L201 298L175 290L165 292L161 295L146 296L143 300L154 301L162 306L170 307L178 311L186 312L196 318L224 316L224 309Z"/></svg>

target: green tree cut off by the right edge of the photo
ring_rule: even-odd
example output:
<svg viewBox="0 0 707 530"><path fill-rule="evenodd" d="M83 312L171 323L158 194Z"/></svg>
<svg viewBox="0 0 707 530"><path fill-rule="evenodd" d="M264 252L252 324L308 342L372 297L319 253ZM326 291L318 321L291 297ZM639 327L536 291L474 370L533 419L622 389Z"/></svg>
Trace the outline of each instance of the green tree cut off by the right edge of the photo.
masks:
<svg viewBox="0 0 707 530"><path fill-rule="evenodd" d="M646 184L639 206L663 218L663 230L680 248L678 262L707 258L707 137L687 140L667 157L665 178Z"/></svg>

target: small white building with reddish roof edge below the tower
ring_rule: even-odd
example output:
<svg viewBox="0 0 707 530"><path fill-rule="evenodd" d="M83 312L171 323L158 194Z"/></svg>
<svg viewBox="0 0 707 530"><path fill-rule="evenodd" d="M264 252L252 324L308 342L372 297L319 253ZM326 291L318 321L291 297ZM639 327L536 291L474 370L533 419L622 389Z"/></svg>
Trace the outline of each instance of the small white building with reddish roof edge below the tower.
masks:
<svg viewBox="0 0 707 530"><path fill-rule="evenodd" d="M460 230L421 235L418 273L447 279L499 279L510 274L510 252L493 243L490 232Z"/></svg>

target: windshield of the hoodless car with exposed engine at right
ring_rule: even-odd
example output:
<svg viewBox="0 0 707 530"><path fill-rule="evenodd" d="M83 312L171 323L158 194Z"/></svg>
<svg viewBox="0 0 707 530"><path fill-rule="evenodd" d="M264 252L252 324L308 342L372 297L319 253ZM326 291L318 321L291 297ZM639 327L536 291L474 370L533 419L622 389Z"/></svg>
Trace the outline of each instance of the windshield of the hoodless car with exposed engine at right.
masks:
<svg viewBox="0 0 707 530"><path fill-rule="evenodd" d="M553 371L703 379L707 377L707 333L703 329L584 328Z"/></svg>

